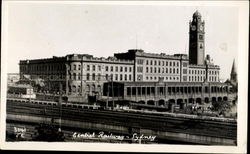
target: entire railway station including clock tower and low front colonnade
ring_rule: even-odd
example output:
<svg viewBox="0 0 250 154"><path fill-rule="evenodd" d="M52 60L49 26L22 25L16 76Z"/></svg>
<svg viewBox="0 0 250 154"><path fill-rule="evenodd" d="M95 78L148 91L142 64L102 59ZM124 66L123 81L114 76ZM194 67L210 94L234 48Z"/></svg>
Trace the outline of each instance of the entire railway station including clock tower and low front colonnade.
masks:
<svg viewBox="0 0 250 154"><path fill-rule="evenodd" d="M188 103L192 97L186 96L197 93L218 93L220 95L214 99L227 99L228 86L220 82L220 67L211 61L209 55L205 55L205 22L198 11L189 22L189 55L167 55L167 52L156 54L142 49L130 49L108 58L71 54L48 59L21 60L19 66L21 81L40 79L39 81L44 82L40 91L49 93L59 93L61 84L63 94L72 101L84 102L88 96L106 98L110 96L107 94L110 83L123 85L123 88L118 89L123 91L124 99L145 105L151 100L149 96L156 93L154 96L157 96L157 100L154 99L154 104L158 102L164 106L172 96L178 97L175 102L181 100ZM158 86L159 84L163 86ZM138 97L145 99L139 100ZM166 98L164 102L161 101L162 97ZM212 98L212 95L206 95L193 99L196 102L209 102Z"/></svg>

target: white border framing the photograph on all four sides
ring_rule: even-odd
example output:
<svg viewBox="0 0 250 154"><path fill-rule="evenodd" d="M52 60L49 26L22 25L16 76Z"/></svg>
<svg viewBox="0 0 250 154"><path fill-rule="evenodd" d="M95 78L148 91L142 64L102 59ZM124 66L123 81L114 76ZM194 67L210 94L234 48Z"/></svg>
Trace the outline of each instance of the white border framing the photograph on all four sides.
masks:
<svg viewBox="0 0 250 154"><path fill-rule="evenodd" d="M170 5L170 6L236 6L239 9L238 36L238 145L200 146L200 145L137 145L110 143L41 143L5 142L6 87L7 87L7 37L9 3L60 3L60 4L115 4L115 5ZM64 151L126 151L126 152L192 152L192 153L245 153L247 148L247 90L248 90L248 1L3 1L2 3L2 53L1 53L1 123L0 148L16 150L64 150ZM222 10L223 11L223 10ZM20 51L21 53L21 51Z"/></svg>

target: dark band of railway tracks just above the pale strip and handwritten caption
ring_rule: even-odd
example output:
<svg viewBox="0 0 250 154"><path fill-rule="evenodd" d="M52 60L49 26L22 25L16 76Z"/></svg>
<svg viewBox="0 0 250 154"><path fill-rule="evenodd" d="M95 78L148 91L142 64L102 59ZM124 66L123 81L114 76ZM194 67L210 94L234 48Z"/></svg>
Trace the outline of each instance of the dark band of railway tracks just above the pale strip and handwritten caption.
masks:
<svg viewBox="0 0 250 154"><path fill-rule="evenodd" d="M18 102L7 103L7 115L8 114L50 117L55 119L60 116L58 106ZM135 127L156 131L185 132L230 139L236 139L237 136L237 123L179 118L167 115L62 107L61 118L72 121L112 124L128 128Z"/></svg>

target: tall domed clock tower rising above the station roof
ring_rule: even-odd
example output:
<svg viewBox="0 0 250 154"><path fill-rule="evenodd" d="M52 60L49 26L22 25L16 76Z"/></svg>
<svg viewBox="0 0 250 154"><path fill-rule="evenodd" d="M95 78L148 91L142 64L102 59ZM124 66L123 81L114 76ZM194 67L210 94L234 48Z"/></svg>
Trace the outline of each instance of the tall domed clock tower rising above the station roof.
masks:
<svg viewBox="0 0 250 154"><path fill-rule="evenodd" d="M189 22L189 63L195 65L204 65L205 56L205 32L204 21L201 20L201 14L196 11L193 14L193 20Z"/></svg>

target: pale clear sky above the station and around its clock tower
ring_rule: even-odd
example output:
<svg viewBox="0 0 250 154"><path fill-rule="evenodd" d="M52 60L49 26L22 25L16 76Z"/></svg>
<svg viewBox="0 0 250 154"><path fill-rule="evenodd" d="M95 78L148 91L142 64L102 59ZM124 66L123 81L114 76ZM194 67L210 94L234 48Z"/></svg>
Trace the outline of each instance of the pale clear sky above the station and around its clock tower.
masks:
<svg viewBox="0 0 250 154"><path fill-rule="evenodd" d="M142 3L143 4L143 3ZM188 54L189 21L205 21L205 54L229 78L238 51L239 13L234 6L10 3L7 19L8 73L20 60L67 54L113 56L129 49Z"/></svg>

